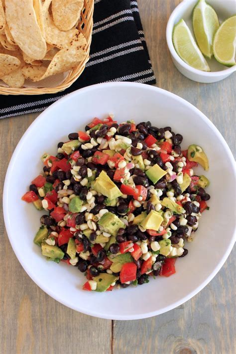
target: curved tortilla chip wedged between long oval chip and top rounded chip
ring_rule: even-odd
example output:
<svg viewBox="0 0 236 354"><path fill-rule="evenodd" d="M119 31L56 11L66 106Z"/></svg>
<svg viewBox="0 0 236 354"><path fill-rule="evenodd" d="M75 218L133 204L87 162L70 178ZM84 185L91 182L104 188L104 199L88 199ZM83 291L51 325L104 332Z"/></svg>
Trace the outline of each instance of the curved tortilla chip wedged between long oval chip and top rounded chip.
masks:
<svg viewBox="0 0 236 354"><path fill-rule="evenodd" d="M45 39L46 42L57 47L59 49L67 48L70 43L74 40L74 37L79 35L79 30L77 28L72 28L69 31L60 31L52 19L49 13L49 6L52 0L45 0L43 4L43 17L45 26Z"/></svg>

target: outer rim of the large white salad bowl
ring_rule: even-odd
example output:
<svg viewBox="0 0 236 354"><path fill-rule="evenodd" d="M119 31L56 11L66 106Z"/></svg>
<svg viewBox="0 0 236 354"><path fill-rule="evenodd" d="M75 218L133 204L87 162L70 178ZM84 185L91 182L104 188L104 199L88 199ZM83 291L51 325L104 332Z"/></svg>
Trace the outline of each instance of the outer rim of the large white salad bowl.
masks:
<svg viewBox="0 0 236 354"><path fill-rule="evenodd" d="M53 112L54 107L61 105L62 103L66 102L67 100L70 100L71 97L73 96L77 96L80 93L86 93L89 92L91 90L97 90L100 87L130 87L130 89L132 87L140 87L140 88L145 88L145 90L150 90L150 91L156 91L156 92L161 92L162 94L172 97L175 100L178 100L179 102L181 102L184 106L187 106L189 108L191 108L193 111L195 111L199 118L202 119L206 124L209 125L209 127L214 131L214 133L217 135L217 137L219 138L219 140L222 142L222 144L224 145L226 151L227 151L227 155L231 161L232 164L232 170L235 173L235 160L234 160L234 156L227 144L227 142L225 141L224 137L222 136L222 134L220 133L220 131L217 129L217 127L201 112L199 111L195 106L193 106L191 103L189 103L188 101L184 100L183 98L169 92L163 89L160 89L158 87L155 86L149 86L149 85L145 85L145 84L139 84L139 83L130 83L130 82L116 82L116 83L102 83L102 84L96 84L96 85L92 85L92 86L88 86L85 87L83 89L77 90L75 92L72 92L71 94L66 95L65 97L61 98L60 100L58 100L57 102L55 102L54 104L52 104L51 106L49 106L44 112L42 112L37 118L35 118L35 120L30 124L30 126L28 127L28 129L25 131L25 133L23 134L23 136L21 137L21 139L19 140L8 165L7 168L7 172L6 172L6 176L5 176L5 181L4 181L4 187L3 187L3 217L4 217L4 222L5 222L5 227L6 227L6 231L7 231L7 236L9 238L11 247L13 248L13 251L16 255L16 257L18 258L20 264L22 265L22 267L24 268L25 272L29 275L29 277L45 292L47 293L49 296L51 296L52 298L54 298L55 300L57 300L58 302L60 302L61 304L79 311L81 313L84 313L86 315L90 315L90 316L94 316L94 317L98 317L98 318L104 318L104 319L108 319L108 320L138 320L138 319L143 319L143 318L149 318L149 317L153 317L153 316L157 316L160 315L162 313L165 313L167 311L173 310L174 308L176 308L177 306L182 305L183 303L185 303L186 301L190 300L193 296L195 296L197 293L199 293L213 278L214 276L219 272L219 270L221 269L221 267L223 266L223 264L225 263L225 261L227 260L233 246L235 243L235 238L236 238L236 232L234 233L231 242L228 245L228 248L226 250L226 252L224 253L221 261L219 262L219 264L217 265L217 267L214 269L214 271L207 277L207 279L205 281L203 281L194 291L190 292L189 294L187 294L186 296L184 296L181 300L176 301L175 303L166 306L164 308L162 308L161 310L154 310L148 313L140 313L137 315L106 315L106 314L101 314L99 312L96 311L84 311L83 306L79 306L79 304L77 306L70 304L68 301L62 301L60 299L60 297L58 296L57 293L53 292L50 287L45 286L44 283L41 280L38 280L33 271L31 269L29 269L27 262L25 262L24 257L22 256L22 254L18 251L18 249L16 247L14 247L14 241L13 241L13 236L11 236L11 227L10 227L10 220L9 220L9 215L7 215L6 211L8 209L8 199L7 199L7 193L8 190L10 188L9 183L8 183L8 176L13 173L13 167L14 167L14 163L15 160L18 157L18 153L21 149L21 146L24 142L24 139L31 134L31 130L34 127L34 125L39 123L39 120L41 120L45 115L47 115L48 113Z"/></svg>

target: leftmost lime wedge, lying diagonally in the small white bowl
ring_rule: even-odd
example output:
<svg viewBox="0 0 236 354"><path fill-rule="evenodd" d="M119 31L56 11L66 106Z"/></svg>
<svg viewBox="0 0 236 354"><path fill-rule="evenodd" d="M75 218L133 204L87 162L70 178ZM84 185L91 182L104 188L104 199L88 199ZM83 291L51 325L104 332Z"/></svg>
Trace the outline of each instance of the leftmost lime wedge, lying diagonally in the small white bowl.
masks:
<svg viewBox="0 0 236 354"><path fill-rule="evenodd" d="M206 59L183 19L174 26L172 40L176 52L187 64L198 70L210 71Z"/></svg>

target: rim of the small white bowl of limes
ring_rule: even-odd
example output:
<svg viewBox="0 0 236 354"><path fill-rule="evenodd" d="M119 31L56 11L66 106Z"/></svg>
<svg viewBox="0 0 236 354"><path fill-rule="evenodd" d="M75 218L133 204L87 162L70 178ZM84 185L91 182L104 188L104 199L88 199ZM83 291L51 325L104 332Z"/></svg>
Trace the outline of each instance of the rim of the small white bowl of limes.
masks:
<svg viewBox="0 0 236 354"><path fill-rule="evenodd" d="M171 53L171 55L174 57L174 59L186 70L192 72L193 74L197 74L197 75L201 75L201 76L205 76L205 77L221 77L221 76L225 76L227 74L231 74L234 71L236 71L236 65L225 69L225 70L220 70L220 71L212 71L212 72L207 72L207 71L202 71L202 70L198 70L193 68L192 66L190 66L189 64L185 63L185 61L183 59L180 58L180 56L177 54L175 47L173 45L172 42L172 32L173 32L173 28L175 25L175 18L178 15L179 11L183 8L183 7L187 7L186 4L191 4L193 2L193 0L183 0L179 5L177 5L175 7L175 9L173 10L173 12L171 13L168 22L167 22L167 26L166 26L166 41L167 41L167 46L169 48L169 51Z"/></svg>

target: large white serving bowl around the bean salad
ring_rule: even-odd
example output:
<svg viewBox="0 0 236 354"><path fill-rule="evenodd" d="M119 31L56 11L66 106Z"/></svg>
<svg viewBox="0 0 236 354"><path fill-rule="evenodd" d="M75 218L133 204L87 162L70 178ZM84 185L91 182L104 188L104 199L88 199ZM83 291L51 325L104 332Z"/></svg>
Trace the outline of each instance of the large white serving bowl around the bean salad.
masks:
<svg viewBox="0 0 236 354"><path fill-rule="evenodd" d="M105 293L82 290L86 278L76 267L46 261L33 237L38 212L21 201L31 180L42 170L40 156L56 153L59 141L81 130L94 117L114 113L118 122L151 120L170 125L184 136L183 148L195 143L209 157L210 210L203 213L189 253L177 259L176 274L148 284ZM165 90L136 83L109 83L76 91L50 106L27 129L7 170L3 211L7 234L21 265L32 280L62 304L88 315L134 320L159 315L189 300L220 270L235 242L235 167L233 155L213 123L197 108Z"/></svg>

